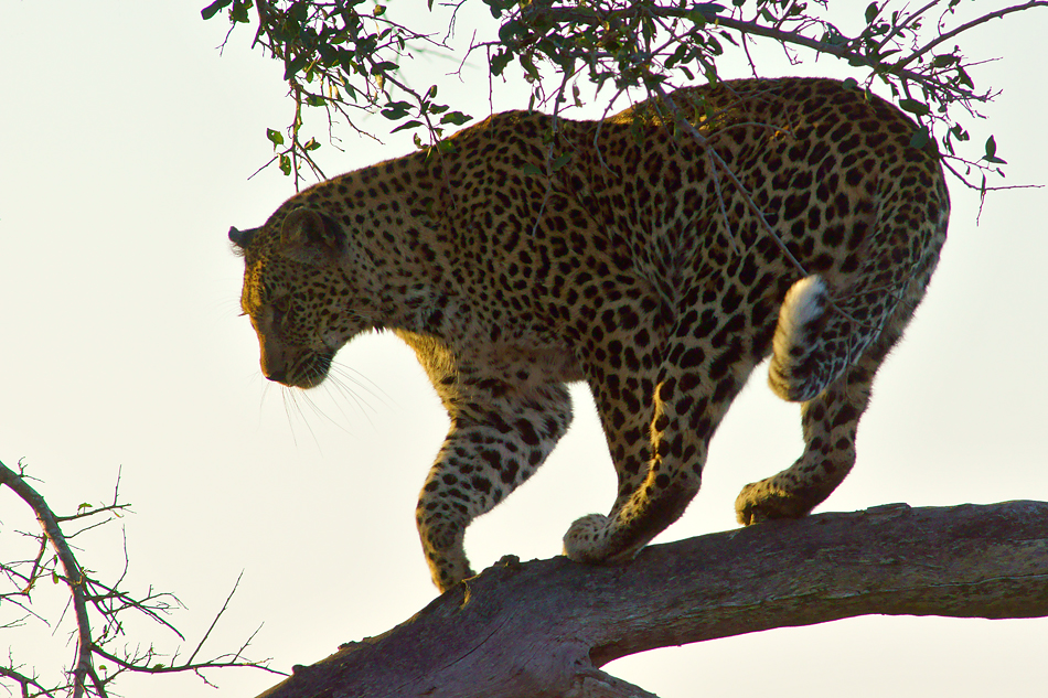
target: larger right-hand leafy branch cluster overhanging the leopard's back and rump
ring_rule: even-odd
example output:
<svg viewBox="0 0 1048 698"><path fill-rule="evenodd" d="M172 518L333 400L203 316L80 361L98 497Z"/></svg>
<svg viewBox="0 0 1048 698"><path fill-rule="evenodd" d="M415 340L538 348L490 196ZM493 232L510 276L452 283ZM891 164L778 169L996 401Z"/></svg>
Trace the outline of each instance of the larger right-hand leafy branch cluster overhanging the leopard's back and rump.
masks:
<svg viewBox="0 0 1048 698"><path fill-rule="evenodd" d="M982 193L987 172L1004 174L995 140L991 136L977 157L961 157L959 147L971 140L967 124L981 118L980 106L996 94L976 88L970 72L976 63L952 42L992 19L1048 6L1026 2L956 23L962 0L931 0L920 7L883 0L862 10L857 23L863 29L849 35L826 19L828 2L817 1L731 0L730 7L674 0L484 2L501 22L499 41L488 45L491 72L501 75L516 62L535 86L533 103L549 100L542 93L541 65L562 76L552 99L556 108L566 101L569 83L578 99L575 82L580 77L598 92L610 83L619 92L638 89L645 97L698 77L715 82L720 77L718 60L729 46L745 52L758 76L762 72L751 47L771 41L792 63L800 63L806 52L828 55L854 68L855 85L885 86L918 121L912 144L935 141L948 167L970 185L966 176L980 171Z"/></svg>

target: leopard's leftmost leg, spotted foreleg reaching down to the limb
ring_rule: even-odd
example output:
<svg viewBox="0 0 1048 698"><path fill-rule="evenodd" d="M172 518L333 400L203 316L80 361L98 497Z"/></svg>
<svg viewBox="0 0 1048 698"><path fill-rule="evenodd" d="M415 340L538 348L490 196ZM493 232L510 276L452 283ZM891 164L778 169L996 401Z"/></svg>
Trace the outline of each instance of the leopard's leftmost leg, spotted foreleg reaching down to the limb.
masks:
<svg viewBox="0 0 1048 698"><path fill-rule="evenodd" d="M463 548L466 527L527 480L571 421L570 397L558 384L516 390L486 380L457 388L457 397L445 400L451 429L416 508L423 550L440 591L473 574Z"/></svg>

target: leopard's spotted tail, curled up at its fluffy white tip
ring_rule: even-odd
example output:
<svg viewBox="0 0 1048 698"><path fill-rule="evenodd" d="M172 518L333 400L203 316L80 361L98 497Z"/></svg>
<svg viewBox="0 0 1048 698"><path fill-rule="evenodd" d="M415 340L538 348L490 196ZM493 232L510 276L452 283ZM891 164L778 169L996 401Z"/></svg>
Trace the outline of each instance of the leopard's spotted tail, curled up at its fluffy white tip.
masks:
<svg viewBox="0 0 1048 698"><path fill-rule="evenodd" d="M947 239L950 195L938 155L909 146L894 152L899 162L841 208L852 215L841 221L854 236L838 250L846 258L795 281L782 299L768 383L785 400L814 399L852 367L876 371L924 297Z"/></svg>

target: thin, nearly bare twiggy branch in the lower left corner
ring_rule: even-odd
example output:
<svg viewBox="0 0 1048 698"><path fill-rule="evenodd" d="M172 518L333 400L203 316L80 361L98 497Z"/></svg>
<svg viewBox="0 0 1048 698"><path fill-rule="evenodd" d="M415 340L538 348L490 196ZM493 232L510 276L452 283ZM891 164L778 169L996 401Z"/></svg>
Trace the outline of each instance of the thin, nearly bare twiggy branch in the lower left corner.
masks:
<svg viewBox="0 0 1048 698"><path fill-rule="evenodd" d="M29 505L42 531L35 536L23 534L36 540L36 554L32 559L13 562L0 561L0 572L13 586L12 591L0 592L0 601L12 602L25 613L23 619L6 626L20 626L29 618L44 623L47 622L33 612L31 597L36 582L51 577L54 581L64 583L69 590L73 618L76 624L74 632L76 648L72 669L65 672L65 679L60 685L46 686L39 676L24 673L14 665L13 658L9 657L7 665L0 665L0 686L4 684L4 679L13 681L20 687L21 695L26 698L30 696L57 696L60 694L72 695L73 698L84 696L108 698L109 686L126 672L143 674L193 672L208 685L212 684L202 673L205 669L249 666L272 674L280 674L280 672L267 666L268 659L253 662L244 658L244 652L250 645L252 640L258 632L257 630L235 653L220 655L210 661L196 661L204 642L228 608L229 599L235 593L239 579L237 579L237 586L234 586L211 627L186 661L177 662L178 652L175 652L170 657L170 662L159 663L157 659L163 658L164 655L157 652L152 645L149 645L146 649L129 651L125 648L119 654L108 648L109 644L125 635L122 613L128 610L135 610L143 614L173 632L180 640L184 640L178 629L164 618L173 608L181 605L181 602L172 594L154 593L152 589L142 598L132 597L119 589L127 573L126 544L125 569L111 587L92 577L92 573L77 561L73 548L69 546L71 538L109 523L128 511L129 505L119 502L119 477L114 490L111 504L97 507L82 504L77 513L72 516L56 516L44 497L29 484L28 480L29 477L21 462L18 472L0 463L0 486L10 487L22 502ZM108 516L108 518L95 520L73 534L63 531L64 525L72 522L83 523L88 519L97 519L99 515ZM97 614L97 619L100 621L100 630L93 625L93 613ZM96 658L113 663L117 669L107 672L105 675L100 674L95 663Z"/></svg>

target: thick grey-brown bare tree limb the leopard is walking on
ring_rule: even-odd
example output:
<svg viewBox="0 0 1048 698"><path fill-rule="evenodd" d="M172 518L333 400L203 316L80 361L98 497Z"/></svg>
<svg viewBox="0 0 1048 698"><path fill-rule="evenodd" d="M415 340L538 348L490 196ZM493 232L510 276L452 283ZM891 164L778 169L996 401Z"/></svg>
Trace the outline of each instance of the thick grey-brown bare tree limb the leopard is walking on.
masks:
<svg viewBox="0 0 1048 698"><path fill-rule="evenodd" d="M264 696L650 696L597 667L869 613L1048 615L1048 503L820 514L652 546L623 567L504 561Z"/></svg>

